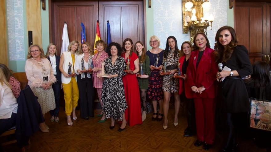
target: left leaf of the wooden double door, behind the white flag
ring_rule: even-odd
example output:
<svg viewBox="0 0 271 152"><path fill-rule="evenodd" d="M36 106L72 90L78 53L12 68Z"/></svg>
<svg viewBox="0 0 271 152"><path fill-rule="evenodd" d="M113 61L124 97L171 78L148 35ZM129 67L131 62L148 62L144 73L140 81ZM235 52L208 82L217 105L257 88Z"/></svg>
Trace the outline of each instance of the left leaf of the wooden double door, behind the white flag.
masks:
<svg viewBox="0 0 271 152"><path fill-rule="evenodd" d="M85 25L86 41L94 43L96 21L98 20L98 2L52 2L51 3L51 42L56 44L58 55L62 45L64 21L67 23L71 41L81 41L81 22Z"/></svg>

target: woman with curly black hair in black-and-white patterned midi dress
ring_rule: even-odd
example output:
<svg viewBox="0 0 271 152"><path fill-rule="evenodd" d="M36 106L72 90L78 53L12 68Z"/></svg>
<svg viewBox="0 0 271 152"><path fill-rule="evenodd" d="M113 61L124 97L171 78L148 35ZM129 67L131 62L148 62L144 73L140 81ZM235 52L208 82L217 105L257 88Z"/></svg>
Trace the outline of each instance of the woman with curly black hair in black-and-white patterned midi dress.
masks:
<svg viewBox="0 0 271 152"><path fill-rule="evenodd" d="M119 131L123 131L126 126L125 109L127 103L125 99L122 76L126 73L126 64L121 57L121 46L112 42L107 47L108 58L104 60L104 72L108 74L103 80L102 101L103 111L106 118L111 118L110 129L115 127L115 120L122 121ZM100 76L98 76L100 77Z"/></svg>

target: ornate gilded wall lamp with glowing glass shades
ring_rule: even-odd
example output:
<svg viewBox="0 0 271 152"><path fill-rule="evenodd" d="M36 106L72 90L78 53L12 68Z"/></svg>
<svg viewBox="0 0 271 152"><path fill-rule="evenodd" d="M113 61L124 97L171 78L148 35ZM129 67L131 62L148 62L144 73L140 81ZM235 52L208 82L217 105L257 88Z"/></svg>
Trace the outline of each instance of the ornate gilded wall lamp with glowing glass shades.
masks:
<svg viewBox="0 0 271 152"><path fill-rule="evenodd" d="M209 14L210 2L208 0L182 0L183 5L183 33L190 31L190 42L193 43L194 36L198 32L206 33L207 27L214 21Z"/></svg>

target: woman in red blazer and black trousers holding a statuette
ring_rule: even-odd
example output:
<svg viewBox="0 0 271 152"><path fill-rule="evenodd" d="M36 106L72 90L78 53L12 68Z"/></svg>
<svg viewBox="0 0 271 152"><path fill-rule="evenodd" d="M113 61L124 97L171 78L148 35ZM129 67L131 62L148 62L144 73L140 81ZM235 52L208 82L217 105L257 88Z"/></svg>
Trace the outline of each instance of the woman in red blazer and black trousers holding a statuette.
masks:
<svg viewBox="0 0 271 152"><path fill-rule="evenodd" d="M184 130L184 136L192 136L196 134L196 118L195 118L195 105L193 99L188 99L185 96L186 91L190 91L191 88L187 85L187 67L192 52L192 44L190 41L184 41L181 45L181 56L179 59L180 63L180 72L184 77L179 79L179 95L181 100L184 101L185 108L187 110L187 128ZM178 73L176 72L174 76Z"/></svg>

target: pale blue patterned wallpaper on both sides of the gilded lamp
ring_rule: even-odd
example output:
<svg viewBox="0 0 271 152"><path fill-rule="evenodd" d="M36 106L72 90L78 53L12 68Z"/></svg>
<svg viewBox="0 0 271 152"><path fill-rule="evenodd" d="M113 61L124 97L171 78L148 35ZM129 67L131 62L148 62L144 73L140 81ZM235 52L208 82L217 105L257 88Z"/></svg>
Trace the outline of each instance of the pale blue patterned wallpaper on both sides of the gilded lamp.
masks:
<svg viewBox="0 0 271 152"><path fill-rule="evenodd" d="M211 3L210 13L214 16L211 28L207 28L207 37L210 41L211 48L215 44L216 31L227 25L227 0L209 0ZM184 41L189 41L190 33L183 34L182 27L182 1L181 0L154 0L153 2L153 22L154 34L159 37L161 43L160 48L165 49L166 40L169 36L176 37L178 47ZM149 41L149 38L147 38Z"/></svg>

